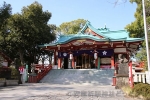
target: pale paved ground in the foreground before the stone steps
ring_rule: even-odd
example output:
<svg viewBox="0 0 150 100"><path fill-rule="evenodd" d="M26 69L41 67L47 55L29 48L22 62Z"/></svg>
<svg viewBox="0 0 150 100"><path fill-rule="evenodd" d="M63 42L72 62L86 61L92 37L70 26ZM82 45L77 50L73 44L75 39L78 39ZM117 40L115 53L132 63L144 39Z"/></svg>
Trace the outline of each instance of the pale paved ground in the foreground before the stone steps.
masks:
<svg viewBox="0 0 150 100"><path fill-rule="evenodd" d="M110 85L25 83L0 87L0 100L138 100ZM139 99L140 100L140 99Z"/></svg>

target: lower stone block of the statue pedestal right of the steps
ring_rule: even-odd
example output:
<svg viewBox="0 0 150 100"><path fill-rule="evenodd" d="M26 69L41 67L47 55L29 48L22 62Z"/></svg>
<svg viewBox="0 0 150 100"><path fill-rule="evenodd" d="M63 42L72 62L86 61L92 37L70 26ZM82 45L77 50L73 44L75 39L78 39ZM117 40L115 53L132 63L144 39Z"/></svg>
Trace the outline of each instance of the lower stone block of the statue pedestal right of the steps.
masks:
<svg viewBox="0 0 150 100"><path fill-rule="evenodd" d="M116 89L121 89L123 86L129 85L128 75L116 75Z"/></svg>

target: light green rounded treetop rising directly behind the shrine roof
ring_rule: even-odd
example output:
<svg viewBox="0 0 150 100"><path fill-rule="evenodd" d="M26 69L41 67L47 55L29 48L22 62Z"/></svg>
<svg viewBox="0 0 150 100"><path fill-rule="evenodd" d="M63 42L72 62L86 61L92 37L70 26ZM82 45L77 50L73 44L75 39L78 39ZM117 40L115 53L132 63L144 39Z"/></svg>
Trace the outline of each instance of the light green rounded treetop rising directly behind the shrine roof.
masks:
<svg viewBox="0 0 150 100"><path fill-rule="evenodd" d="M64 22L57 28L57 31L61 32L62 34L77 34L82 29L85 23L86 20L84 19Z"/></svg>

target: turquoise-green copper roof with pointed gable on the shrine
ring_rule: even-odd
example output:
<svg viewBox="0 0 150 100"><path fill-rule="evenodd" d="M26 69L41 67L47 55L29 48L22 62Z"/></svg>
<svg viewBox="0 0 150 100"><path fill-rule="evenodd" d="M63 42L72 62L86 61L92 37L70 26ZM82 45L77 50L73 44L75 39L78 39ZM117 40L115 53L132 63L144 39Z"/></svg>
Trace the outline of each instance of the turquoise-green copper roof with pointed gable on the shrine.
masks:
<svg viewBox="0 0 150 100"><path fill-rule="evenodd" d="M84 33L87 28L91 29L93 32L102 36L103 38L99 38L97 36ZM109 28L106 28L106 26L105 28L96 29L91 25L89 21L87 21L79 33L71 35L60 35L56 43L44 44L43 46L55 46L57 44L65 44L67 42L77 39L91 39L94 41L126 41L126 42L136 42L144 40L143 38L130 38L129 33L126 30L110 31Z"/></svg>

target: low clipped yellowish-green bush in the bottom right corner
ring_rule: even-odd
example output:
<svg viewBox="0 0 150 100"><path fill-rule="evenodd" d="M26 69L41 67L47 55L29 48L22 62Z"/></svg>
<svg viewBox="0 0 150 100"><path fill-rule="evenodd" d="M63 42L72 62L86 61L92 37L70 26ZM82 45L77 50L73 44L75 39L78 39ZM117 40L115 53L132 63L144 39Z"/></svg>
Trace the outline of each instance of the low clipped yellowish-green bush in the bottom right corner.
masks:
<svg viewBox="0 0 150 100"><path fill-rule="evenodd" d="M137 83L131 92L135 97L143 96L146 100L150 99L150 85L144 83Z"/></svg>

